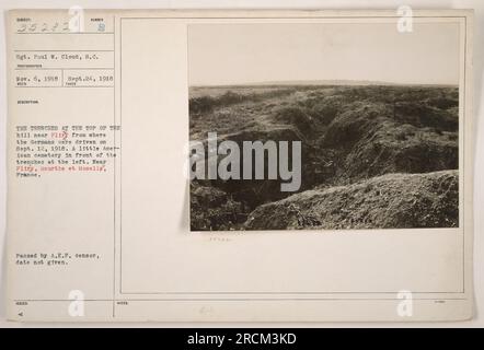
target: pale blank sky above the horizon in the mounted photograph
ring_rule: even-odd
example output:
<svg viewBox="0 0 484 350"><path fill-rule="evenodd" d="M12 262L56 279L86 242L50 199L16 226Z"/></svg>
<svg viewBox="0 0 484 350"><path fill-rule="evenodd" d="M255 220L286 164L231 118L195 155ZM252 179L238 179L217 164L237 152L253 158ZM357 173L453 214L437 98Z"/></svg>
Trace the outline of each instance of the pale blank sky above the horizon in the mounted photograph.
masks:
<svg viewBox="0 0 484 350"><path fill-rule="evenodd" d="M303 80L458 84L458 23L191 24L191 85Z"/></svg>

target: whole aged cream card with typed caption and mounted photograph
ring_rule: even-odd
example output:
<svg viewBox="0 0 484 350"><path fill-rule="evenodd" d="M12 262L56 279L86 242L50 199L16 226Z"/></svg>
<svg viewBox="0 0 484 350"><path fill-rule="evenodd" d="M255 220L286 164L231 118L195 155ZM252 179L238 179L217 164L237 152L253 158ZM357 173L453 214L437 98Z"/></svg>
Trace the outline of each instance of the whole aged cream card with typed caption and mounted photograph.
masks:
<svg viewBox="0 0 484 350"><path fill-rule="evenodd" d="M14 10L8 62L11 319L472 317L472 11Z"/></svg>

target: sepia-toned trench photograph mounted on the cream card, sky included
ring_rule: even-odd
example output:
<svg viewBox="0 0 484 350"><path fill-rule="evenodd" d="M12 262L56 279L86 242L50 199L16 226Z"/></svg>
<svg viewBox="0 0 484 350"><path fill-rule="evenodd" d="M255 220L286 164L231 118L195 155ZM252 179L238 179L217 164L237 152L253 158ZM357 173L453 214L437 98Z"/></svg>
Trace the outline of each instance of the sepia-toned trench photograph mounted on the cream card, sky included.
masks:
<svg viewBox="0 0 484 350"><path fill-rule="evenodd" d="M458 228L459 35L191 24L192 231Z"/></svg>

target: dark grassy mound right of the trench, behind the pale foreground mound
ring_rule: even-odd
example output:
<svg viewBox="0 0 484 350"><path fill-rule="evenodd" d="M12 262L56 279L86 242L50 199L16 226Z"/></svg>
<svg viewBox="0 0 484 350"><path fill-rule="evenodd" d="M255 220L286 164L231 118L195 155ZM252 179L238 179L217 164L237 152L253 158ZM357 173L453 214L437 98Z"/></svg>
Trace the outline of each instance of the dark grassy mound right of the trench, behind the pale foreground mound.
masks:
<svg viewBox="0 0 484 350"><path fill-rule="evenodd" d="M419 105L355 103L339 114L322 138L338 150L341 179L358 180L389 173L428 173L457 168L457 118Z"/></svg>

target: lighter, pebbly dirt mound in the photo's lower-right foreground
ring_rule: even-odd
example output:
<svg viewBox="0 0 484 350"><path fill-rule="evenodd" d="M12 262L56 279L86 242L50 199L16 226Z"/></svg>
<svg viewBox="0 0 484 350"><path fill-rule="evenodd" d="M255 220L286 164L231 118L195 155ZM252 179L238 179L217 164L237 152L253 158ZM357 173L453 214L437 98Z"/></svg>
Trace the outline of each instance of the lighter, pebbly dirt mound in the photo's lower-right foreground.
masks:
<svg viewBox="0 0 484 350"><path fill-rule="evenodd" d="M459 225L458 171L387 174L307 190L258 207L245 230L404 229Z"/></svg>

